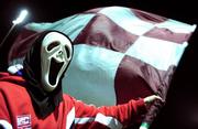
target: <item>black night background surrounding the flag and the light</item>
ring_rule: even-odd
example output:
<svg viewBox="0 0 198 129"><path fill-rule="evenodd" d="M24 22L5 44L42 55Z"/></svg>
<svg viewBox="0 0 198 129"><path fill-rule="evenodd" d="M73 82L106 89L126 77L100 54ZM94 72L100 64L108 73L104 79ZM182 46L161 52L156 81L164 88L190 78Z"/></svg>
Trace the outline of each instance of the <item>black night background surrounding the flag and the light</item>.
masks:
<svg viewBox="0 0 198 129"><path fill-rule="evenodd" d="M53 22L88 9L108 6L135 8L189 24L198 24L196 0L13 0L0 2L0 41L21 8L30 11L28 22ZM23 24L25 24L23 23ZM10 44L21 30L16 26L0 49L0 68L4 71ZM152 129L198 129L198 31L189 41L173 77L166 105Z"/></svg>

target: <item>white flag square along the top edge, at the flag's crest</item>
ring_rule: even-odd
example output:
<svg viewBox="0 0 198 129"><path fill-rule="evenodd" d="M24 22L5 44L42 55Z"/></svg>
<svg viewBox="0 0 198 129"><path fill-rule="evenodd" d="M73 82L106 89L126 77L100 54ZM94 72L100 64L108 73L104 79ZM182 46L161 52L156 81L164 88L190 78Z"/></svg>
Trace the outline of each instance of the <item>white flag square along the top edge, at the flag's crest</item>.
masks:
<svg viewBox="0 0 198 129"><path fill-rule="evenodd" d="M132 34L142 35L154 28L154 24L142 21L129 8L111 7L105 8L99 13L107 15L118 25Z"/></svg>

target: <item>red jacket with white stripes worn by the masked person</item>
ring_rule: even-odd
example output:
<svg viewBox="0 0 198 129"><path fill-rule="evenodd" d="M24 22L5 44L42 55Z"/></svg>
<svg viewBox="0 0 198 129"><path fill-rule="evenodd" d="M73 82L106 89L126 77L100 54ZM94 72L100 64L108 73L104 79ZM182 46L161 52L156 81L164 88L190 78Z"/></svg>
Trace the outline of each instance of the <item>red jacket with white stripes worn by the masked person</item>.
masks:
<svg viewBox="0 0 198 129"><path fill-rule="evenodd" d="M120 129L146 111L143 99L110 107L95 107L64 94L64 100L45 119L38 118L20 76L0 73L0 127L14 129Z"/></svg>

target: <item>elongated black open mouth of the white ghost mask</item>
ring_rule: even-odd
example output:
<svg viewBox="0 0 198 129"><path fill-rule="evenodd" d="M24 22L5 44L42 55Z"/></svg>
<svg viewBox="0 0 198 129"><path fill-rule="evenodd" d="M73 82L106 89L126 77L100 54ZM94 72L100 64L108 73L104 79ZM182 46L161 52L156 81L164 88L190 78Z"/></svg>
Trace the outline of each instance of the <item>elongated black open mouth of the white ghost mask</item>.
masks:
<svg viewBox="0 0 198 129"><path fill-rule="evenodd" d="M48 75L48 82L51 85L56 84L56 78L58 76L59 71L62 69L62 66L64 65L64 62L57 63L54 58L51 61L51 68L50 68L50 75Z"/></svg>

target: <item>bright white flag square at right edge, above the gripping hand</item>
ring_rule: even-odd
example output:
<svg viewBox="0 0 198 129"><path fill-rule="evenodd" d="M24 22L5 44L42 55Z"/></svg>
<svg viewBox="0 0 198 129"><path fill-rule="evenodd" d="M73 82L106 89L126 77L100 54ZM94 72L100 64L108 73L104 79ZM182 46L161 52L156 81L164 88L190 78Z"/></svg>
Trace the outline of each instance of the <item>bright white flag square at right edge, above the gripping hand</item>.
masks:
<svg viewBox="0 0 198 129"><path fill-rule="evenodd" d="M177 65L186 46L186 42L178 44L169 41L140 36L127 51L127 54L157 69L167 71L170 65Z"/></svg>

